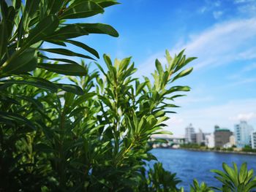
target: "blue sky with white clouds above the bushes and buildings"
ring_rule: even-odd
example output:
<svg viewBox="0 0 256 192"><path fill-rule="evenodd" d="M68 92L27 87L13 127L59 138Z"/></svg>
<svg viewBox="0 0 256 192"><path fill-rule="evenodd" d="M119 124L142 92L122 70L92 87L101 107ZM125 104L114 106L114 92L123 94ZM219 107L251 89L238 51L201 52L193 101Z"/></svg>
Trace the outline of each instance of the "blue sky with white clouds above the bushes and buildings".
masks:
<svg viewBox="0 0 256 192"><path fill-rule="evenodd" d="M194 71L178 80L192 91L176 99L177 114L167 130L184 135L192 123L197 131L214 126L230 128L240 120L256 128L256 1L255 0L120 0L103 15L83 20L108 23L118 38L92 34L78 40L111 58L132 56L135 74L150 76L154 61L165 64L170 55L186 48L195 56ZM104 65L102 58L99 64Z"/></svg>

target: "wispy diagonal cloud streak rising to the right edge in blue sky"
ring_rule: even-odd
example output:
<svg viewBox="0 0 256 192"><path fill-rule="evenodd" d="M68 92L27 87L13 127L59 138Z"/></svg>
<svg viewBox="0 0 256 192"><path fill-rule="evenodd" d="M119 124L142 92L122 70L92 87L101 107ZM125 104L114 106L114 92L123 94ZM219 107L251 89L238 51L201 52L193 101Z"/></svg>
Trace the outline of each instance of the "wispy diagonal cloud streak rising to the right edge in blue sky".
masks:
<svg viewBox="0 0 256 192"><path fill-rule="evenodd" d="M197 35L189 34L192 39L184 45L175 45L170 53L186 48L186 53L196 56L195 69L230 64L255 58L256 18L232 20L219 23ZM165 61L165 51L151 55L141 64L139 74L148 74L154 69L154 60Z"/></svg>

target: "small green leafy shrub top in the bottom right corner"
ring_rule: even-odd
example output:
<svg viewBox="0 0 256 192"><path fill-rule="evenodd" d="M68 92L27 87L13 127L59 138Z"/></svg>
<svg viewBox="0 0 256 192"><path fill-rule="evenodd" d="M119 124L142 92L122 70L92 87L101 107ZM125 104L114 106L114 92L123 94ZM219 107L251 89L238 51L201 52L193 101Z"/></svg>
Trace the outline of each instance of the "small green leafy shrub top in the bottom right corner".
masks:
<svg viewBox="0 0 256 192"><path fill-rule="evenodd" d="M222 188L216 188L219 191L229 192L248 192L256 189L256 177L253 176L253 170L248 171L246 163L241 165L241 169L238 171L238 167L233 163L233 168L223 163L222 167L225 172L219 170L212 170L216 173L217 180L222 183Z"/></svg>

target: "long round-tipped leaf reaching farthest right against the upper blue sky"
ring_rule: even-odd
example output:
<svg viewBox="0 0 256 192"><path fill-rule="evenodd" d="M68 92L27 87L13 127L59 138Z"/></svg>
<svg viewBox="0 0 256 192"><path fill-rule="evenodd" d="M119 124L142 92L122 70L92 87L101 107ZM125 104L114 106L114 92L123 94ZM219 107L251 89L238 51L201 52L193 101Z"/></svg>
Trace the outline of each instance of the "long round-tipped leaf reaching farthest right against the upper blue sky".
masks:
<svg viewBox="0 0 256 192"><path fill-rule="evenodd" d="M108 34L112 37L118 37L118 32L112 26L102 23L78 23L89 32L89 34Z"/></svg>

